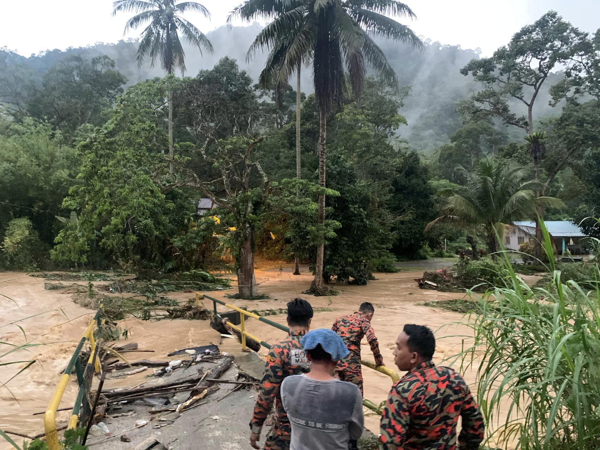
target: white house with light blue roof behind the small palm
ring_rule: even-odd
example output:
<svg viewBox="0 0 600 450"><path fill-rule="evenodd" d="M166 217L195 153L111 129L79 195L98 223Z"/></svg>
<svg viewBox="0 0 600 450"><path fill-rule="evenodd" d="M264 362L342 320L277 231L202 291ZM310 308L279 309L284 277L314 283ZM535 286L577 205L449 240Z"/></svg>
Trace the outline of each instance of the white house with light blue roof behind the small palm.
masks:
<svg viewBox="0 0 600 450"><path fill-rule="evenodd" d="M544 221L548 233L559 254L565 253L568 249L571 254L583 254L584 238L587 236L581 228L568 220L547 220ZM535 241L535 222L518 221L515 222L515 227L512 232L508 232L504 236L504 246L507 249L518 250L519 245L527 241Z"/></svg>

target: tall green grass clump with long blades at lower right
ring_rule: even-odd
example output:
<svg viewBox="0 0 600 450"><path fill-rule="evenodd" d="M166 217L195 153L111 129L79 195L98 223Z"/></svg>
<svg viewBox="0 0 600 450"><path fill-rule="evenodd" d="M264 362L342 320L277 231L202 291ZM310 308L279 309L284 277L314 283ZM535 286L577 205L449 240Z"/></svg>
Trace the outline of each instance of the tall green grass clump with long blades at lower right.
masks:
<svg viewBox="0 0 600 450"><path fill-rule="evenodd" d="M476 303L467 323L474 343L448 359L475 368L488 437L522 450L597 450L600 290L563 278L542 229L549 286L530 288L505 257L506 286Z"/></svg>

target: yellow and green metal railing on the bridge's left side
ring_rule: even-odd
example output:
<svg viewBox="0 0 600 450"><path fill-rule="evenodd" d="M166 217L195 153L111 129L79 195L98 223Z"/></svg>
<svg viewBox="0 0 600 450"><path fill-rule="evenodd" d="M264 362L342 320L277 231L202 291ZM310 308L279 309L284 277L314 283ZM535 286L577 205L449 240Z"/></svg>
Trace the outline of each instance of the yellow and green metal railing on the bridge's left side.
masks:
<svg viewBox="0 0 600 450"><path fill-rule="evenodd" d="M65 368L64 374L62 374L61 380L58 382L58 386L56 386L56 390L52 395L52 400L50 400L50 404L46 409L46 413L44 413L44 430L46 431L46 442L49 450L60 450L61 448L58 442L58 431L56 431L56 410L58 410L58 406L62 400L62 395L65 393L65 389L67 389L67 384L71 377L73 368L77 374L79 391L77 392L77 398L75 404L73 405L73 412L71 413L67 428L70 430L71 428L77 427L77 422L79 421L79 412L82 404L83 410L86 413L89 412L88 398L85 394L91 386L88 386L86 383L86 375L88 375L92 370L94 370L96 373L100 372L100 361L97 358L96 343L94 340L94 325L101 325L102 319L100 316L101 310L98 310L94 316L94 319L92 319L89 323L85 333L83 333L83 337L79 341L79 344L77 344L77 348L73 352L73 356L71 356L69 364L67 365L67 368ZM91 350L85 372L83 372L81 362L79 360L79 354L83 348L83 344L85 344L86 341L89 341Z"/></svg>

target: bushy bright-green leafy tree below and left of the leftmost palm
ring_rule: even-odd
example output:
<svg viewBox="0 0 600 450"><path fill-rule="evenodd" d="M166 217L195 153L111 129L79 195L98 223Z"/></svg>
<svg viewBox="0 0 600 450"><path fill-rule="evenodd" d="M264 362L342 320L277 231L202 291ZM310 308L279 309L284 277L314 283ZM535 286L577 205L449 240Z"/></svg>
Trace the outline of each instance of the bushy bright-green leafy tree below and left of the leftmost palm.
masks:
<svg viewBox="0 0 600 450"><path fill-rule="evenodd" d="M173 217L186 212L180 209L186 202L176 205L148 172L160 162L143 146L127 146L119 136L104 133L83 143L80 151L78 183L63 205L76 212L77 221L56 236L52 259L92 266L108 262L138 272L160 268L164 237L176 233ZM194 203L187 203L192 215Z"/></svg>

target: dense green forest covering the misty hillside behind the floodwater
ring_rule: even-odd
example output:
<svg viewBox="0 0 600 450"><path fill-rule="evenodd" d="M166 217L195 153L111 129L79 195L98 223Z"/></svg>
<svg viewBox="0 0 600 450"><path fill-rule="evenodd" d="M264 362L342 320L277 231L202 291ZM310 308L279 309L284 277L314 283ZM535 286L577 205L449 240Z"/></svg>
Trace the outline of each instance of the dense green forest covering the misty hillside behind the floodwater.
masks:
<svg viewBox="0 0 600 450"><path fill-rule="evenodd" d="M3 49L0 268L175 271L232 257L239 271L255 253L314 267L322 244L325 281L366 283L395 260L443 256L445 241L454 253L467 234L494 250L491 210L508 224L598 215L600 31L550 11L490 58L378 37L397 86L376 70L359 97L344 83L326 115L325 187L311 62L296 177L296 77L258 83L271 55L245 60L261 32L218 28L202 56L184 46L183 77L138 66L139 41ZM500 185L506 173L520 184ZM476 176L498 197L459 202ZM461 226L427 227L436 218Z"/></svg>

